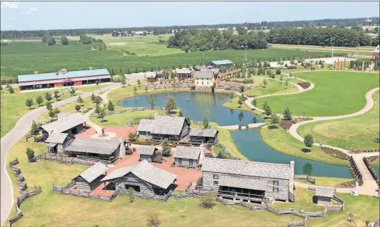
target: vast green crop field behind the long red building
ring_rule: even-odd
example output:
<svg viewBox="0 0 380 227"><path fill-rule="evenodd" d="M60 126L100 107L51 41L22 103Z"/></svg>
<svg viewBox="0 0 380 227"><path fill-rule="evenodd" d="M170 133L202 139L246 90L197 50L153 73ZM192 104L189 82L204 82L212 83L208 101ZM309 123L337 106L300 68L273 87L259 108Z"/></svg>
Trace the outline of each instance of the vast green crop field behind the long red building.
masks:
<svg viewBox="0 0 380 227"><path fill-rule="evenodd" d="M152 39L157 41L157 38ZM127 39L122 40L124 42ZM165 45L157 46L164 46L163 48L166 48ZM70 41L70 45L53 46L44 45L42 42L13 42L10 45L1 47L1 77L2 79L16 78L17 75L30 74L35 70L44 73L56 72L61 68L67 68L68 70L84 70L89 67L107 68L110 72L112 68L116 70L120 67L125 67L125 69L129 67L132 71L134 68L142 71L143 68L150 70L151 67L157 69L158 66L164 68L166 65L171 68L173 65L178 67L180 64L185 65L186 63L190 65L194 63L199 64L203 61L203 56L205 62L222 59L237 61L244 58L244 51L234 49L179 54L171 52L171 54L167 54L173 51L173 49L166 48L165 51L162 51L157 56L125 56L118 48L112 49L112 47L108 47L106 51L93 51L90 49L90 45L83 45L77 41ZM138 51L146 51L144 50L145 47L134 48L136 48L136 53ZM178 49L174 50L178 51ZM247 58L255 60L258 58L263 60L269 57L287 58L287 56L308 58L309 56L322 54L329 54L329 52L273 48L247 50Z"/></svg>

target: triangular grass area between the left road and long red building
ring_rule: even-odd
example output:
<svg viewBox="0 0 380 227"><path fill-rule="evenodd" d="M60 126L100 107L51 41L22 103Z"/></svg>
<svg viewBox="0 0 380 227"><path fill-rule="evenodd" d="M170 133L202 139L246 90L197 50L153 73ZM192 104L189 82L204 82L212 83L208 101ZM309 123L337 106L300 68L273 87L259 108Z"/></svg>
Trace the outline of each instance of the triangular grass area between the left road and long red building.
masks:
<svg viewBox="0 0 380 227"><path fill-rule="evenodd" d="M24 116L24 114L35 108L38 108L38 104L35 102L35 97L38 95L44 97L44 93L46 92L54 95L55 91L33 91L20 93L18 88L14 88L14 90L15 93L13 94L9 93L8 89L1 91L1 137L12 130L13 127L15 127L17 120ZM71 97L70 93L63 94L63 89L60 89L59 91L61 91L61 97L58 99L58 101ZM31 109L25 105L25 101L29 98L31 98L34 102L33 106L31 106ZM56 102L56 99L54 98L50 102ZM45 104L46 100L44 97L44 102L42 102L40 105L43 106Z"/></svg>

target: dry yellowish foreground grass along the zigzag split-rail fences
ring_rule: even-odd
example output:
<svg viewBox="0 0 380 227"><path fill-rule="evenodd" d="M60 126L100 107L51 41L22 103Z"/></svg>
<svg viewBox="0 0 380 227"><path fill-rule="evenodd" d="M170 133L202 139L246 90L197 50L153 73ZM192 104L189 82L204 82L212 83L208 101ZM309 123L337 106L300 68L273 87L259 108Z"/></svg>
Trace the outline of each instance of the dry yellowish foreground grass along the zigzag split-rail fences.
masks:
<svg viewBox="0 0 380 227"><path fill-rule="evenodd" d="M33 148L35 155L45 152L43 144L20 140L11 148L7 162L18 157L17 167L22 170L22 175L26 179L29 187L40 185L42 193L28 198L20 206L24 217L19 219L14 226L75 226L76 220L81 220L83 226L119 226L120 224L132 226L144 226L147 214L151 210L159 213L160 226L284 226L287 221L299 220L294 216L278 217L267 211L247 210L242 206L223 205L215 202L216 206L212 210L204 210L199 206L197 198L171 198L168 202L152 201L136 197L134 203L129 203L128 196L117 196L111 203L97 201L88 198L78 198L76 196L61 195L50 190L52 184L65 185L72 178L79 175L89 166L65 165L56 162L41 161L35 163L26 162L25 150ZM7 166L8 171L10 171ZM61 173L65 174L61 174ZM15 189L15 197L18 190L16 179L10 174ZM312 191L306 189L296 189L296 203L276 203L276 208L296 208L306 211L319 210L322 208L312 204ZM338 194L345 199L345 210L343 212L329 212L324 219L310 219L312 226L324 226L328 221L328 226L342 226L347 224L349 212L354 212L355 226L363 226L364 220L374 220L379 214L377 198L370 196L351 196L349 194ZM81 204L78 206L78 204ZM15 209L10 213L13 217ZM115 212L118 210L118 212ZM134 215L128 219L121 218L120 212ZM102 214L102 215L99 215ZM46 218L51 217L51 218ZM52 218L54 217L54 218ZM106 217L106 218L104 218ZM360 217L360 218L359 218Z"/></svg>

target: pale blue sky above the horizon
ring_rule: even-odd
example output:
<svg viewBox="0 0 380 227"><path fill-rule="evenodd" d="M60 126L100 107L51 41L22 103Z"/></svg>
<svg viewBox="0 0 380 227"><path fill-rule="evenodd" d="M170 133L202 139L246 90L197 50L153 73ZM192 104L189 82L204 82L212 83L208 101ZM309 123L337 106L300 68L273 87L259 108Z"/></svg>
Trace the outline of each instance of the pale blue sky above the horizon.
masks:
<svg viewBox="0 0 380 227"><path fill-rule="evenodd" d="M2 1L1 31L379 17L379 2Z"/></svg>

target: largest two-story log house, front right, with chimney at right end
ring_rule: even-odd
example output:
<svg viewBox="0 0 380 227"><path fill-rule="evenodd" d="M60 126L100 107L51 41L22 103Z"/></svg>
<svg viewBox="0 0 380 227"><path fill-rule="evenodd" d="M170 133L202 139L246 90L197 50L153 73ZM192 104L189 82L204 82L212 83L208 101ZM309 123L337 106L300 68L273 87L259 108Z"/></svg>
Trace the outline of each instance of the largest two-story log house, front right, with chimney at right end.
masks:
<svg viewBox="0 0 380 227"><path fill-rule="evenodd" d="M275 164L205 157L202 173L203 189L217 191L219 197L233 201L289 201L293 193L293 161Z"/></svg>

